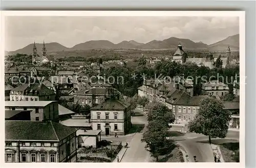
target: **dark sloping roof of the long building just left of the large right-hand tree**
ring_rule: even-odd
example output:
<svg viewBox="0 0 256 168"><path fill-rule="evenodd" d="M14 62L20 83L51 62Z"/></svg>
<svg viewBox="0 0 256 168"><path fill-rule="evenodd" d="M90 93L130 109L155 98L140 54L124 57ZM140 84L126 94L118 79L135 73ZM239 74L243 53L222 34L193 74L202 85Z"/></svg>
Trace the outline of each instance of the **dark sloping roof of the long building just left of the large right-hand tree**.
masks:
<svg viewBox="0 0 256 168"><path fill-rule="evenodd" d="M199 106L204 97L190 97L187 93L183 92L180 98L175 101L176 105Z"/></svg>

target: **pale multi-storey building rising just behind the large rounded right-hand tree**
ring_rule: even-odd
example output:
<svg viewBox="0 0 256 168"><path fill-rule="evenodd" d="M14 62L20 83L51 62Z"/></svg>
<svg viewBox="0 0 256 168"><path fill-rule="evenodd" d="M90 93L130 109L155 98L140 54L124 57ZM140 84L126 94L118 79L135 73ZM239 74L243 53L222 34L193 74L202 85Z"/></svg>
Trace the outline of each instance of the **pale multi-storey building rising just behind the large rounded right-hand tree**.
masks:
<svg viewBox="0 0 256 168"><path fill-rule="evenodd" d="M218 81L218 80L212 80L205 84L202 84L202 92L206 95L219 95L222 96L225 93L228 93L228 85Z"/></svg>

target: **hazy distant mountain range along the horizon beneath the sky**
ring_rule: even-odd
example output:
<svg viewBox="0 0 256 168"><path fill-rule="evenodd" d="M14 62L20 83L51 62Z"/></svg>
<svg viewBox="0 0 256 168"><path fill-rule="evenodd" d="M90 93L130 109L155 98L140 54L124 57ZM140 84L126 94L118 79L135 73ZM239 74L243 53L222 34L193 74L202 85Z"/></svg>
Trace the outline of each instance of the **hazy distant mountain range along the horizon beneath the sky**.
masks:
<svg viewBox="0 0 256 168"><path fill-rule="evenodd" d="M229 36L224 40L207 45L203 42L194 42L189 39L182 39L176 37L170 37L165 40L153 40L147 43L139 43L134 40L122 41L118 44L114 44L108 40L91 40L83 43L76 44L75 46L68 48L57 42L46 43L46 49L48 53L61 52L61 51L81 51L92 49L176 49L177 45L181 43L184 49L207 49L209 51L225 51L228 46L231 50L239 50L239 34ZM38 53L42 49L41 43L36 43ZM12 55L17 53L31 54L33 51L33 43L25 46L22 49L18 49L12 52L6 52L6 55Z"/></svg>

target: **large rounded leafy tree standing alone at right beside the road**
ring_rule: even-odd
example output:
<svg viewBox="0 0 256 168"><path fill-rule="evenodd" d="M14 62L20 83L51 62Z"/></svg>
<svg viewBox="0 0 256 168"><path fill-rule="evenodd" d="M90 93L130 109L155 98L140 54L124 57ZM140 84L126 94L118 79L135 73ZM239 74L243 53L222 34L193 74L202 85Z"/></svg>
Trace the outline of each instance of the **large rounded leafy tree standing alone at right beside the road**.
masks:
<svg viewBox="0 0 256 168"><path fill-rule="evenodd" d="M231 114L223 108L224 105L219 100L212 98L203 99L200 102L196 118L188 123L189 131L209 136L209 143L211 143L211 138L225 138Z"/></svg>

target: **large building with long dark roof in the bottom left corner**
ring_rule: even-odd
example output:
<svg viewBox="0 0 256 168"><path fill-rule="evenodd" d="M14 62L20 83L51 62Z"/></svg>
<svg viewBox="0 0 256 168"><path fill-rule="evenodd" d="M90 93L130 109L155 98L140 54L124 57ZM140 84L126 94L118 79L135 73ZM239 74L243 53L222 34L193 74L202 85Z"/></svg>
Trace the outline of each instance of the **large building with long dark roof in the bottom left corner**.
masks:
<svg viewBox="0 0 256 168"><path fill-rule="evenodd" d="M76 129L55 122L6 121L5 162L76 162Z"/></svg>

